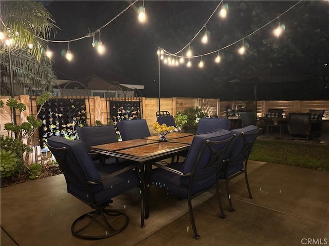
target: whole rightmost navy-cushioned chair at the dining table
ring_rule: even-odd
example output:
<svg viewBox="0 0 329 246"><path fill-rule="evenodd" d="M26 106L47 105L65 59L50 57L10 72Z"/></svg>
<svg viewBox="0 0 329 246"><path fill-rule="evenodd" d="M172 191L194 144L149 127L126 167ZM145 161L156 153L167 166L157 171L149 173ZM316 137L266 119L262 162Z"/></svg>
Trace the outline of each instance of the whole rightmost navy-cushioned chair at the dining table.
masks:
<svg viewBox="0 0 329 246"><path fill-rule="evenodd" d="M229 180L244 173L249 198L252 198L247 176L247 163L252 146L258 136L259 131L260 128L251 125L239 129L233 129L231 131L236 137L232 140L230 151L228 153L229 156L225 158L229 159L229 161L223 163L219 174L220 179L225 179L226 193L231 212L234 212L234 209L229 191Z"/></svg>

